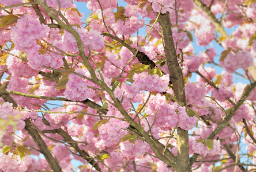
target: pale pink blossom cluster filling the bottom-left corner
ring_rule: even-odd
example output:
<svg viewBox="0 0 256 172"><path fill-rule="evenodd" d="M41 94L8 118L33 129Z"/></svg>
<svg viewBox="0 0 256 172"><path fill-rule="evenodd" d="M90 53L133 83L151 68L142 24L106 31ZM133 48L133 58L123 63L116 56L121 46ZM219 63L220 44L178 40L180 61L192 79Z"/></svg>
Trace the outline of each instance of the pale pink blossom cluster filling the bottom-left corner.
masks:
<svg viewBox="0 0 256 172"><path fill-rule="evenodd" d="M0 169L5 172L20 171L25 172L28 170L28 166L31 164L32 158L26 155L24 158L20 158L18 154L2 153L0 148Z"/></svg>

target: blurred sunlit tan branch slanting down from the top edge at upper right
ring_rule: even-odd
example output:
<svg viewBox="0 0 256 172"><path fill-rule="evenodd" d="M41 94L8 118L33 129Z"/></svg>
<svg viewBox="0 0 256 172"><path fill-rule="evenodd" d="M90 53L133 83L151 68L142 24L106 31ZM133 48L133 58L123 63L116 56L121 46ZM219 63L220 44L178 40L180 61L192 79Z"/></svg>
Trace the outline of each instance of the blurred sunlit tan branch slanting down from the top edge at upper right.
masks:
<svg viewBox="0 0 256 172"><path fill-rule="evenodd" d="M218 21L216 16L212 13L212 11L210 10L210 7L206 6L201 0L194 0L194 3L208 15L210 21L214 25L215 30L219 32L221 36L227 37L228 36L227 32L225 31L223 26L221 26L221 23Z"/></svg>

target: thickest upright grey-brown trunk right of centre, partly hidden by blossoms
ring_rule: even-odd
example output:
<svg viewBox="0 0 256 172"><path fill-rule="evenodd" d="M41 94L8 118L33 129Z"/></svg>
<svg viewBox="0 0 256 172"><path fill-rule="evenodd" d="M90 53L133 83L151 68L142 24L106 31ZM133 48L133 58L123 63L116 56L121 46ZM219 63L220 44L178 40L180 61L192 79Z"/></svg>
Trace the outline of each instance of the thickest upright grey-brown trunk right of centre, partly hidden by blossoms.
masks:
<svg viewBox="0 0 256 172"><path fill-rule="evenodd" d="M183 80L182 69L179 67L178 57L176 55L174 39L172 38L172 24L170 20L170 14L168 12L166 14L160 15L159 25L167 66L170 72L170 81L172 83L172 89L174 90L174 96L179 101L179 104L184 106L186 105L185 83ZM191 171L191 165L189 164L189 133L188 131L178 128L177 134L179 166L175 170Z"/></svg>

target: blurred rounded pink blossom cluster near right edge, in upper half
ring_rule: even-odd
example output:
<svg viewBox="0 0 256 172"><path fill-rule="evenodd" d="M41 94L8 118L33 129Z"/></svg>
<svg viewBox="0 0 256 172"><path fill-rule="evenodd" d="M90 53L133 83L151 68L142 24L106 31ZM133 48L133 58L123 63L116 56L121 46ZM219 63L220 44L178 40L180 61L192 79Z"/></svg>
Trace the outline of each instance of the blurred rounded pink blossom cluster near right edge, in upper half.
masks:
<svg viewBox="0 0 256 172"><path fill-rule="evenodd" d="M227 72L234 73L237 69L247 69L253 65L253 56L246 50L239 50L237 53L229 52L223 61L220 61Z"/></svg>

